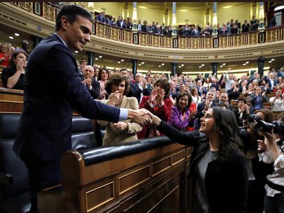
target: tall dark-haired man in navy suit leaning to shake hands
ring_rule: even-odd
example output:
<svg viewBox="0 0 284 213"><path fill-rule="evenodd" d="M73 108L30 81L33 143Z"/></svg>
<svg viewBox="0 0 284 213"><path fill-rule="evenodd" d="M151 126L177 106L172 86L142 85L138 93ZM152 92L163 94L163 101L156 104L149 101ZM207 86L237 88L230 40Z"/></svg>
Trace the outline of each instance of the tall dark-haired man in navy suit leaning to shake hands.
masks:
<svg viewBox="0 0 284 213"><path fill-rule="evenodd" d="M86 118L145 124L145 110L111 107L91 98L78 74L72 51L90 42L92 15L78 5L64 5L56 17L56 32L29 55L24 105L14 151L29 171L31 213L37 212L39 190L61 182L60 159L71 149L73 108Z"/></svg>

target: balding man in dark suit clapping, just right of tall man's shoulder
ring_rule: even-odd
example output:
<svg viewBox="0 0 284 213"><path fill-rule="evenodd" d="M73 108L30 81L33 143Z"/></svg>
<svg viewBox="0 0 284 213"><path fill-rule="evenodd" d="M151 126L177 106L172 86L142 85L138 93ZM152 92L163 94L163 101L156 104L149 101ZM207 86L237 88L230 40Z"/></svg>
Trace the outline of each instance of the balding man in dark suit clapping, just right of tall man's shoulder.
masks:
<svg viewBox="0 0 284 213"><path fill-rule="evenodd" d="M99 98L99 82L95 81L93 66L85 66L83 70L82 84L86 86L93 99Z"/></svg>

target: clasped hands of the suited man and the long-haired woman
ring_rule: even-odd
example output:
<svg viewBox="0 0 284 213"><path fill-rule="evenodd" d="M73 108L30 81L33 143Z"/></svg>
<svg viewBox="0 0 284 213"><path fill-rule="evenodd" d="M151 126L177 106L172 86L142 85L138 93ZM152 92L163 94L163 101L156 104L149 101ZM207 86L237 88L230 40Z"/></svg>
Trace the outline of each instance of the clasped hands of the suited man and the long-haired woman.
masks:
<svg viewBox="0 0 284 213"><path fill-rule="evenodd" d="M128 110L128 118L135 123L139 123L139 125L160 125L161 118L155 116L151 112L146 109L140 110Z"/></svg>

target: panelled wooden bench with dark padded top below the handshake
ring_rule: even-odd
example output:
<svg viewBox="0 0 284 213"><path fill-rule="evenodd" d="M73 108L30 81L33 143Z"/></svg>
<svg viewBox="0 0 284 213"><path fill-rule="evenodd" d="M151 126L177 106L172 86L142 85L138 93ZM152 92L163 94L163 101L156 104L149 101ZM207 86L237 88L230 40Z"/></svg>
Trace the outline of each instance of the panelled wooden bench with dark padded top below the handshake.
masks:
<svg viewBox="0 0 284 213"><path fill-rule="evenodd" d="M167 137L67 151L62 188L38 194L39 212L190 212L191 151Z"/></svg>

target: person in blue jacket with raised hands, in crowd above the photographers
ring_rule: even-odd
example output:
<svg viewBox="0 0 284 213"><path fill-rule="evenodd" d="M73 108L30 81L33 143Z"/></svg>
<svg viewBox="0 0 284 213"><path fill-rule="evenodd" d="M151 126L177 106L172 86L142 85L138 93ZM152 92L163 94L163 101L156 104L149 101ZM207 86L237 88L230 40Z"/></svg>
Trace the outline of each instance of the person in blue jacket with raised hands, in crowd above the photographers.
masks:
<svg viewBox="0 0 284 213"><path fill-rule="evenodd" d="M257 87L255 93L250 95L250 114L255 114L257 110L263 109L263 103L268 102L265 91L261 92L261 88Z"/></svg>

